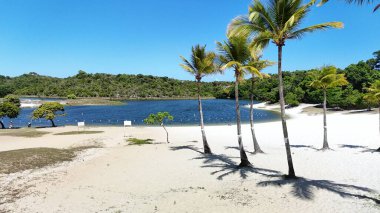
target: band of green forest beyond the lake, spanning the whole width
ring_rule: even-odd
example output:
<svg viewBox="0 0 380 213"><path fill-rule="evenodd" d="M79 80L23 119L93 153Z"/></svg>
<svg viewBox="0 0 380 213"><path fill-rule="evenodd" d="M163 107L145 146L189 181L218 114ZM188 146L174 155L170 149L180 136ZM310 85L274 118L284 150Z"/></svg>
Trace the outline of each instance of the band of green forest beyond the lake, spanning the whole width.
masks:
<svg viewBox="0 0 380 213"><path fill-rule="evenodd" d="M344 74L349 84L328 90L329 107L342 109L367 108L370 103L364 99L366 88L375 80L380 80L380 71L375 70L380 61L380 51L374 58L351 64L345 69L338 69ZM274 65L276 66L276 65ZM297 106L299 103L318 104L323 100L322 91L310 87L311 73L315 70L286 71L285 100L287 104ZM226 73L226 74L231 74ZM278 102L277 74L270 74L263 79L255 79L253 94L255 100ZM248 99L251 81L243 80L239 95ZM42 76L28 73L18 77L0 75L0 97L7 94L38 97L108 97L114 99L175 99L195 98L197 87L195 81L182 81L168 77L128 74L90 74L80 70L77 75L68 78ZM233 82L202 82L203 97L234 98Z"/></svg>

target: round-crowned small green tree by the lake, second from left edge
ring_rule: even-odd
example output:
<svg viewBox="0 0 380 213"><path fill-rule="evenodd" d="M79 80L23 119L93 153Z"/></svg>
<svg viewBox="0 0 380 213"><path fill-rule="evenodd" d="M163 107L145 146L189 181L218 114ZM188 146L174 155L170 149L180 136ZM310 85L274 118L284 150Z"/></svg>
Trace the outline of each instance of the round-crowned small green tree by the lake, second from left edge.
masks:
<svg viewBox="0 0 380 213"><path fill-rule="evenodd" d="M33 111L32 118L40 119L45 118L51 122L52 127L56 127L54 118L56 116L65 116L65 111L62 104L58 102L46 102ZM59 114L57 112L60 112Z"/></svg>

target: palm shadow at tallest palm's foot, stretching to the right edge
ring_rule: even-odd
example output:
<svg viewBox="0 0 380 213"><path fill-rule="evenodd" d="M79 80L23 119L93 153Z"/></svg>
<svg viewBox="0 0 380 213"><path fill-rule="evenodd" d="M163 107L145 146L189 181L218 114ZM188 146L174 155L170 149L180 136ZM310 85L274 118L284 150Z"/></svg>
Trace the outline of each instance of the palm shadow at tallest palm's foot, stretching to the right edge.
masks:
<svg viewBox="0 0 380 213"><path fill-rule="evenodd" d="M291 194L297 198L303 200L312 200L314 199L315 190L326 190L343 198L358 198L364 200L371 200L376 204L380 204L380 199L370 197L364 193L375 193L376 191L361 186L349 185L349 184L340 184L335 183L329 180L310 180L306 178L296 178L296 179L276 179L270 181L261 181L257 183L257 186L267 187L275 186L282 187L285 185L290 185L292 187Z"/></svg>

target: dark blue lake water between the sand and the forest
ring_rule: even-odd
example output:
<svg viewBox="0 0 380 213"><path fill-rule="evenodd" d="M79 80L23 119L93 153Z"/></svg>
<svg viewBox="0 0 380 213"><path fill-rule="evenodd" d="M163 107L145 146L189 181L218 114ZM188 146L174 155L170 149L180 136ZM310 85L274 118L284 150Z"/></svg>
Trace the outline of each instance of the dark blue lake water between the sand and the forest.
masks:
<svg viewBox="0 0 380 213"><path fill-rule="evenodd" d="M243 123L249 122L249 108L244 105L249 101L242 100L241 117ZM24 127L28 122L32 126L49 126L50 122L44 119L31 120L33 108L23 108L20 116L13 119L13 126ZM64 117L57 117L54 121L57 125L77 125L84 121L86 125L118 125L122 126L124 120L131 120L133 125L144 125L143 120L150 113L167 111L174 116L174 120L168 125L198 125L198 101L197 100L152 100L152 101L127 101L120 106L66 106ZM203 113L205 124L234 124L235 101L234 100L204 100ZM276 112L255 110L256 122L268 122L279 119ZM3 120L8 126L9 119Z"/></svg>

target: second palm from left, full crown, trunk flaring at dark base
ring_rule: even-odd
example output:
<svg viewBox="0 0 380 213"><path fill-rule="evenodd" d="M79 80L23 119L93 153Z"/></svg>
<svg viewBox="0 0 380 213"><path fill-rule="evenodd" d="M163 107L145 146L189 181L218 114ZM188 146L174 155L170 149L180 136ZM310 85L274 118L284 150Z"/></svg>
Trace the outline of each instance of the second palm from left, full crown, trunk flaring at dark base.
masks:
<svg viewBox="0 0 380 213"><path fill-rule="evenodd" d="M239 105L239 82L244 79L244 74L250 70L260 75L260 72L254 67L248 66L251 52L248 48L247 37L233 36L229 37L227 41L221 43L217 42L217 49L219 50L219 60L222 64L221 69L225 70L232 68L235 73L235 102L236 102L236 125L237 135L240 150L240 167L251 166L247 154L244 151L243 140L241 135L241 119L240 119L240 105Z"/></svg>

